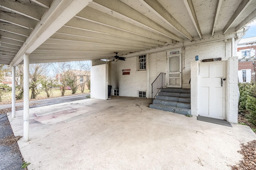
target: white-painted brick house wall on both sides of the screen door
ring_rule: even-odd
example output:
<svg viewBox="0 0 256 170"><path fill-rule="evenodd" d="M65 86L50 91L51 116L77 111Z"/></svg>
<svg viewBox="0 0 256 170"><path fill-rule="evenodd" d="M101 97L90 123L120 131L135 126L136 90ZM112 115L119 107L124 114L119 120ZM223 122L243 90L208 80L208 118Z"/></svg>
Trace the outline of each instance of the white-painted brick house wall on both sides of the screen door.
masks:
<svg viewBox="0 0 256 170"><path fill-rule="evenodd" d="M196 55L199 61L195 61ZM212 42L194 45L182 49L182 88L191 88L191 113L198 116L198 64L203 59L221 57L228 60L228 121L237 123L238 86L237 70L238 62L231 57L231 42ZM160 72L167 72L166 51L152 53L147 59L148 71L137 71L137 57L127 58L126 61L111 62L110 85L119 87L120 96L138 97L138 91L146 91L149 86L149 98L151 98L151 84ZM185 67L185 68L184 68ZM122 75L123 69L131 69L130 75ZM149 82L147 76L149 74ZM191 82L189 84L189 80ZM146 93L148 94L148 93ZM148 97L148 96L147 96Z"/></svg>

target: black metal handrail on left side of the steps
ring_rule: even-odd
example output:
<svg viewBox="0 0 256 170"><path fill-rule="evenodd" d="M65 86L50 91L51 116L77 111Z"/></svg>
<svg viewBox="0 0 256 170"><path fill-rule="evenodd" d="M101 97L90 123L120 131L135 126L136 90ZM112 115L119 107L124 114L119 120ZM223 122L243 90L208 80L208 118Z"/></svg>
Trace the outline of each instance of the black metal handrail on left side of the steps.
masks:
<svg viewBox="0 0 256 170"><path fill-rule="evenodd" d="M152 103L153 103L153 100L156 97L157 93L159 92L159 90L166 86L165 75L166 75L165 73L161 72L157 76L156 80L154 80L154 82L151 84L151 86L152 86Z"/></svg>

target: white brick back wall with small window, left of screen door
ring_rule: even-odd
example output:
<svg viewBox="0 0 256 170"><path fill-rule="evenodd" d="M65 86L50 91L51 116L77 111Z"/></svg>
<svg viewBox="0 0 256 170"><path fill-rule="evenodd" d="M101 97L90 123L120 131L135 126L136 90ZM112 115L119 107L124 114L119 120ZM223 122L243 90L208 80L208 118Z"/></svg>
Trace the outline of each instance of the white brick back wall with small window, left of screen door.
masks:
<svg viewBox="0 0 256 170"><path fill-rule="evenodd" d="M138 91L145 91L146 97L151 98L152 82L160 72L166 73L166 51L149 54L147 70L137 71L137 57L127 58L126 61L113 61L110 63L110 85L112 85L112 89L119 87L120 96L138 97ZM124 69L131 69L130 75L122 75L122 70ZM147 92L148 86L149 96Z"/></svg>

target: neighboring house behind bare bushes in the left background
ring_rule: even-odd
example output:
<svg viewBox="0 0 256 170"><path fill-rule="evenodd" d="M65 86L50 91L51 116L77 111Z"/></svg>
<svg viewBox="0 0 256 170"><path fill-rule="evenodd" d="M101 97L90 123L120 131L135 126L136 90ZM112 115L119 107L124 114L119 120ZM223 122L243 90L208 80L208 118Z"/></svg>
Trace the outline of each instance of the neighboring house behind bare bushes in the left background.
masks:
<svg viewBox="0 0 256 170"><path fill-rule="evenodd" d="M70 71L76 74L78 89L81 89L80 84L85 84L84 88L88 89L86 83L88 82L88 80L90 80L90 71L84 71L84 70L70 70ZM59 80L60 82L63 79L63 75L57 74L56 79Z"/></svg>

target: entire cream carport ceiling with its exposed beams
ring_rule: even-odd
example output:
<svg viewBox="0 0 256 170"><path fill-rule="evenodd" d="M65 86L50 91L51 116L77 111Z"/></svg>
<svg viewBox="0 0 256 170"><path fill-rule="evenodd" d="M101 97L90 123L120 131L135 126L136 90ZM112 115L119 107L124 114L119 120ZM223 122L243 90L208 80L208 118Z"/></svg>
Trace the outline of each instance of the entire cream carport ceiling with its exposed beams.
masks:
<svg viewBox="0 0 256 170"><path fill-rule="evenodd" d="M102 59L234 33L256 0L0 0L0 63Z"/></svg>

